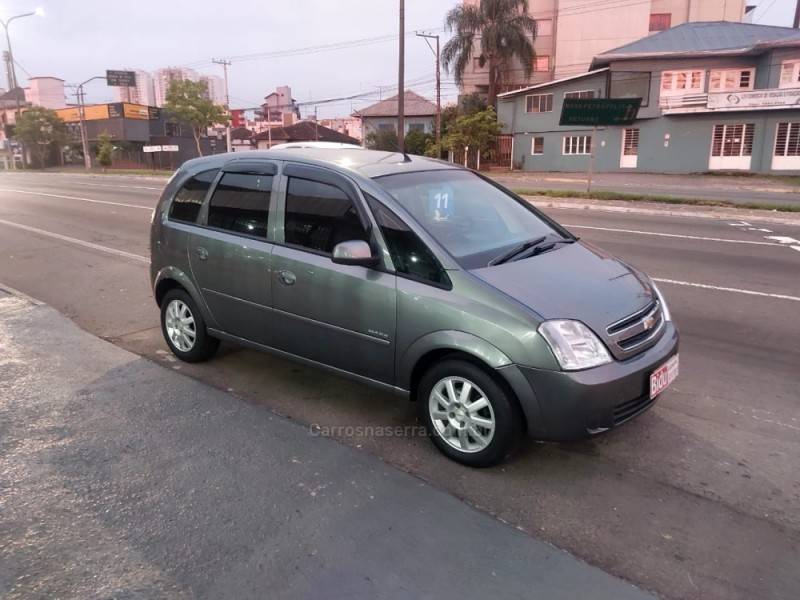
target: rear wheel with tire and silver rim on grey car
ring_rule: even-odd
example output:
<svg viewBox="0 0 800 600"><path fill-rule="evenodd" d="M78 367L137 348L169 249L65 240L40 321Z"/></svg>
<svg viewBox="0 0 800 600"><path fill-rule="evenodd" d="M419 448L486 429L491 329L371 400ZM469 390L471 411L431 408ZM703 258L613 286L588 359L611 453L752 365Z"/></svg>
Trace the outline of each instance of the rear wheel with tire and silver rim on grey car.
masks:
<svg viewBox="0 0 800 600"><path fill-rule="evenodd" d="M172 353L185 362L202 362L217 352L197 304L183 289L173 289L161 301L161 333Z"/></svg>

